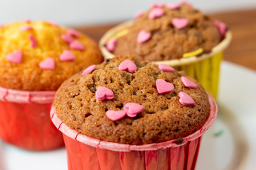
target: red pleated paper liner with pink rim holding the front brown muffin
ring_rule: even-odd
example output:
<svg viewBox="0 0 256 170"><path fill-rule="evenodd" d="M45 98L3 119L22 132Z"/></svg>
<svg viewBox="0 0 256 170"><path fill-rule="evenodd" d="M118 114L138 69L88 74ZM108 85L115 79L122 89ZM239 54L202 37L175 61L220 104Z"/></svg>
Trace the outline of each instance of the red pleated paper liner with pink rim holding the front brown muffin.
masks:
<svg viewBox="0 0 256 170"><path fill-rule="evenodd" d="M178 143L177 140L148 145L105 142L68 128L58 118L54 108L51 108L50 117L56 128L63 132L69 170L191 170L196 166L201 137L213 125L218 112L213 97L208 94L208 98L210 113L206 123L201 129L183 137Z"/></svg>

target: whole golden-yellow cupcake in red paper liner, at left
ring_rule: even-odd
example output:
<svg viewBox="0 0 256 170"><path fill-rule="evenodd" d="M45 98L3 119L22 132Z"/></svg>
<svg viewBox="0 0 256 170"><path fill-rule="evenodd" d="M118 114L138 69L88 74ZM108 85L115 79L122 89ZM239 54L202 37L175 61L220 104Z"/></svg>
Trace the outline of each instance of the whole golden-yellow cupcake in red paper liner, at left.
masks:
<svg viewBox="0 0 256 170"><path fill-rule="evenodd" d="M21 21L0 28L0 47L1 139L31 150L63 146L50 106L65 79L102 62L97 44L55 23Z"/></svg>

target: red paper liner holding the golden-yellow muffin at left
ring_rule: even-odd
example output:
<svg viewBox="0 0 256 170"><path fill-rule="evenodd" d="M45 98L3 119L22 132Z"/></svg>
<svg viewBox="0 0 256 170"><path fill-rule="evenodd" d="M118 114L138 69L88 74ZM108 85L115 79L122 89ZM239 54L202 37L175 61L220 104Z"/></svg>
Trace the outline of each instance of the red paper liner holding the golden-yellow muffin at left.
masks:
<svg viewBox="0 0 256 170"><path fill-rule="evenodd" d="M62 147L63 136L50 120L55 91L18 91L0 87L1 140L30 150Z"/></svg>

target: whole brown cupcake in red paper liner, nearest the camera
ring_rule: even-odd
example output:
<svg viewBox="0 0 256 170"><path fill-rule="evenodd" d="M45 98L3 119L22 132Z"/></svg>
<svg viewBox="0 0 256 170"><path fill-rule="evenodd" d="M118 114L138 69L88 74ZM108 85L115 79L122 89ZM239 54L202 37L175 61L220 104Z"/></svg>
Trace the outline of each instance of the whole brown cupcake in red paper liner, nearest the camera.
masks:
<svg viewBox="0 0 256 170"><path fill-rule="evenodd" d="M70 77L50 111L69 169L194 169L216 115L198 81L128 56Z"/></svg>

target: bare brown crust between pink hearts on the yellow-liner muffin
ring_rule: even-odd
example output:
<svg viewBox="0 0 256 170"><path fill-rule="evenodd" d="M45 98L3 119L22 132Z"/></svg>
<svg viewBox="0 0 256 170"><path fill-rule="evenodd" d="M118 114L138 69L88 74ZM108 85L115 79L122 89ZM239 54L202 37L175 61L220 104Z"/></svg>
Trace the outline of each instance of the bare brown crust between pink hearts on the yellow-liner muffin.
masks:
<svg viewBox="0 0 256 170"><path fill-rule="evenodd" d="M127 35L118 38L114 55L134 55L149 61L172 60L201 47L209 51L222 39L213 20L191 6L181 5L174 10L164 7L163 10L164 16L159 18L149 19L149 10L134 21ZM173 18L187 18L188 26L181 30L174 28ZM137 43L140 30L150 32L150 40Z"/></svg>

